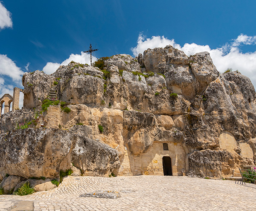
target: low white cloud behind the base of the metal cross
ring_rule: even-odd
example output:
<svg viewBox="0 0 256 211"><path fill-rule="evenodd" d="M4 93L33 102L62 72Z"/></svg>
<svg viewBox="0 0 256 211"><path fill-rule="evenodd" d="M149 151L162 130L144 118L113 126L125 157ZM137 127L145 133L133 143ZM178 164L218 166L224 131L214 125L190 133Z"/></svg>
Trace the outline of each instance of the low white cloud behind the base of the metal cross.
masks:
<svg viewBox="0 0 256 211"><path fill-rule="evenodd" d="M92 56L92 61L95 62L96 60L97 58ZM47 62L46 66L44 66L43 68L43 71L47 74L52 74L58 69L59 66L68 65L71 61L78 62L81 64L87 63L90 65L90 54L87 54L81 51L81 54L70 54L70 57L64 60L61 64Z"/></svg>

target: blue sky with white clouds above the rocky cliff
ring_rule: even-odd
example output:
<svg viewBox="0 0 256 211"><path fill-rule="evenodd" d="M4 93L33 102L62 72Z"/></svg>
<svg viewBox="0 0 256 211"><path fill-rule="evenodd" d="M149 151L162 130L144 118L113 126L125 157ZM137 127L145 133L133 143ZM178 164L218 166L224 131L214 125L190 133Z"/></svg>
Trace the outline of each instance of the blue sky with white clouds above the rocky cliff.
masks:
<svg viewBox="0 0 256 211"><path fill-rule="evenodd" d="M89 63L113 54L136 56L148 47L209 51L223 72L238 69L256 85L254 0L0 1L0 95L23 88L29 69L50 74L71 60Z"/></svg>

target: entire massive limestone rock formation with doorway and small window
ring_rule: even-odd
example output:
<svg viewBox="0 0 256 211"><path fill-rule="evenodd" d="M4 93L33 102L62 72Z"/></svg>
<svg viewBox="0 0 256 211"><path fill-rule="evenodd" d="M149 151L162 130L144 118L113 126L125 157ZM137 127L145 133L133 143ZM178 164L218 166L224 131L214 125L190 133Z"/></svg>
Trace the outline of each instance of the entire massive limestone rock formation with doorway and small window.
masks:
<svg viewBox="0 0 256 211"><path fill-rule="evenodd" d="M0 179L58 178L71 163L84 175L221 178L256 162L255 89L239 71L220 75L208 52L154 48L22 83L23 109L0 119Z"/></svg>

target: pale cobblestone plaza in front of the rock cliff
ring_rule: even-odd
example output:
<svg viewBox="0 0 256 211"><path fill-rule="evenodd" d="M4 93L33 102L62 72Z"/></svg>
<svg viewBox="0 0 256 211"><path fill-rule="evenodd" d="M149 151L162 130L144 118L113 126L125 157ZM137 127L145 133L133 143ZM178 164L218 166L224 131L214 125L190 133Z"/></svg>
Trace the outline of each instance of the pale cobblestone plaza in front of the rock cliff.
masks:
<svg viewBox="0 0 256 211"><path fill-rule="evenodd" d="M93 191L118 191L121 197L79 197ZM256 185L172 176L68 176L51 191L0 196L0 211L20 211L21 204L34 211L255 211Z"/></svg>

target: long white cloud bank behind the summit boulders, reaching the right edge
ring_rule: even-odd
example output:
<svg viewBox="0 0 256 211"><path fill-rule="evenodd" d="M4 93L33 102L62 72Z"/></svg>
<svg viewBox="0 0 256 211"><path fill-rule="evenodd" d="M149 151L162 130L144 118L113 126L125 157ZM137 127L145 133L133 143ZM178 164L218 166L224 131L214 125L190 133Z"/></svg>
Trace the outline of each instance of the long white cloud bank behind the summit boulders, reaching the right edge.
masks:
<svg viewBox="0 0 256 211"><path fill-rule="evenodd" d="M208 45L201 46L196 43L186 43L183 47L175 43L175 40L169 40L164 36L153 36L145 40L143 34L139 35L137 46L131 48L134 56L142 53L147 48L165 47L166 45L172 45L175 48L182 50L185 54L195 54L202 51L208 51L212 57L212 61L218 71L224 72L227 68L233 68L233 70L239 70L242 74L250 78L253 85L256 87L256 51L242 53L239 50L241 45L254 45L256 44L256 36L247 36L240 34L231 43L227 43L221 48L211 49Z"/></svg>

